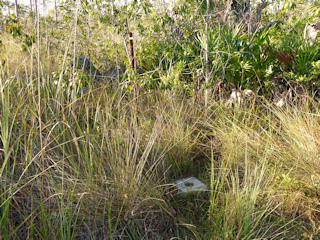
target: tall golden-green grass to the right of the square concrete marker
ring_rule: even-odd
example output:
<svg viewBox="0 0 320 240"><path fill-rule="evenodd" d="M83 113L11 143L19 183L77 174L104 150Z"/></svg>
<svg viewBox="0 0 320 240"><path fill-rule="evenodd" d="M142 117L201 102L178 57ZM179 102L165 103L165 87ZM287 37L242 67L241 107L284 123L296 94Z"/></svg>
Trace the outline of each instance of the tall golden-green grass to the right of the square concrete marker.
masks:
<svg viewBox="0 0 320 240"><path fill-rule="evenodd" d="M211 168L210 219L217 237L318 234L319 112L317 103L311 105L224 109L209 121L221 152Z"/></svg>

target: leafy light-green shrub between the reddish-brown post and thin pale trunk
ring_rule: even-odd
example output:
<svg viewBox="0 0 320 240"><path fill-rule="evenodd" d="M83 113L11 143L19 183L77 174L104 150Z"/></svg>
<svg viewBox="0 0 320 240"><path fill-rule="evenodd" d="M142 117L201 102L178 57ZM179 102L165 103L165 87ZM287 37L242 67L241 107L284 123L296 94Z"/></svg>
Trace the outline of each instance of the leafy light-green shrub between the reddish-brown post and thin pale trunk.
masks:
<svg viewBox="0 0 320 240"><path fill-rule="evenodd" d="M157 69L151 78L162 79L152 81L153 84L161 84L161 88L164 89L177 85L167 77L174 75L174 65L180 66L183 62L184 68L181 69L180 75L188 80L183 81L183 78L180 78L179 85L182 88L188 88L190 85L190 78L196 75L200 64L197 59L200 54L196 41L198 28L195 27L201 21L196 14L199 10L201 9L198 9L194 2L183 1L173 6L170 14L159 14L153 10L149 16L143 18L149 22L148 27L138 25L139 33L143 37L137 49L140 65L145 71Z"/></svg>

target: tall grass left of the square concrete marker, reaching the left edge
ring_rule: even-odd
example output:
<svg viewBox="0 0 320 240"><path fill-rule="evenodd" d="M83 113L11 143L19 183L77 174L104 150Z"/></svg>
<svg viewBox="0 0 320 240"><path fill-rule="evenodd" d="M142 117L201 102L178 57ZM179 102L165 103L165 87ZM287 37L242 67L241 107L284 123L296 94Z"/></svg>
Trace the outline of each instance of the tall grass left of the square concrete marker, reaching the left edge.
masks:
<svg viewBox="0 0 320 240"><path fill-rule="evenodd" d="M6 50L9 56L12 49ZM40 68L48 63L45 57ZM34 62L24 62L7 81L14 61L7 59L1 75L1 236L178 235L164 197L174 179L166 156L195 142L189 137L193 117L184 112L193 109L190 104L157 93L143 95L137 108L130 92L120 96L109 86L92 86L72 99L56 91L49 73L40 73L37 83Z"/></svg>

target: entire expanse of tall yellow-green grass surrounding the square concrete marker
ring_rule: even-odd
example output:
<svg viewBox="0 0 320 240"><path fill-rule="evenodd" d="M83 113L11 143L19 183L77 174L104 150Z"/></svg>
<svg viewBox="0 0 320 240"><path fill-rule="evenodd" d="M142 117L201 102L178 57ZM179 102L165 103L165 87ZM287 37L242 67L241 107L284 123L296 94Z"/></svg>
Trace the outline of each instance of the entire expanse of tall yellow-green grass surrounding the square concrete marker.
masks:
<svg viewBox="0 0 320 240"><path fill-rule="evenodd" d="M205 107L183 91L137 99L93 81L71 98L50 72L38 76L51 57L3 42L1 238L319 234L318 103ZM208 191L179 195L172 182L189 176Z"/></svg>

